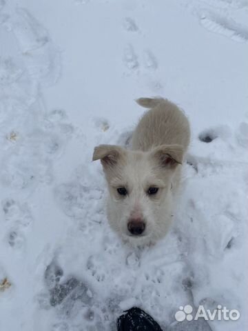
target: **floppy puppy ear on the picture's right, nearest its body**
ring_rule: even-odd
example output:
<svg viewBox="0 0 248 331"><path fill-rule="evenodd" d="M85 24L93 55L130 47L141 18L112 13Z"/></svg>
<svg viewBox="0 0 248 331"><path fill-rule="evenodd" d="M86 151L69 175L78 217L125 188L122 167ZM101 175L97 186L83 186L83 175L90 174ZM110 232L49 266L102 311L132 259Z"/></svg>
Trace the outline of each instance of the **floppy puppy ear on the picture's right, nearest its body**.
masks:
<svg viewBox="0 0 248 331"><path fill-rule="evenodd" d="M173 169L183 162L183 146L177 144L158 146L151 153L152 158L163 168Z"/></svg>

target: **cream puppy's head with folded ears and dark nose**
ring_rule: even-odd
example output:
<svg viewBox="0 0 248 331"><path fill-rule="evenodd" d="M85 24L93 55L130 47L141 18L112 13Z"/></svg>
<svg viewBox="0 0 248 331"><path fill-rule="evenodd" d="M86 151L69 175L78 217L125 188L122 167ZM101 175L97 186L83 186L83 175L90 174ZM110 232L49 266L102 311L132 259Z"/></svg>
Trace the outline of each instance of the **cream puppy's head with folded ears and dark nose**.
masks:
<svg viewBox="0 0 248 331"><path fill-rule="evenodd" d="M162 145L149 152L101 145L109 197L107 218L125 239L142 244L163 237L172 221L172 181L183 160L183 147Z"/></svg>

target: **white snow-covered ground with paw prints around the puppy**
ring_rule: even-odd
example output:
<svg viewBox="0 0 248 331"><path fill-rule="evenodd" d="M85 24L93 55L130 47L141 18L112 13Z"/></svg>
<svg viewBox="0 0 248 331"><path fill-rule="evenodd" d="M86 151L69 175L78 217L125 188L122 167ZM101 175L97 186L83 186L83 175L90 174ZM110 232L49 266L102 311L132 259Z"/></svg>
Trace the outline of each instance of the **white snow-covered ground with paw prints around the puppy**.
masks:
<svg viewBox="0 0 248 331"><path fill-rule="evenodd" d="M0 0L0 330L247 329L247 0ZM174 227L134 250L107 224L99 143L161 95L192 144ZM176 322L181 305L238 321Z"/></svg>

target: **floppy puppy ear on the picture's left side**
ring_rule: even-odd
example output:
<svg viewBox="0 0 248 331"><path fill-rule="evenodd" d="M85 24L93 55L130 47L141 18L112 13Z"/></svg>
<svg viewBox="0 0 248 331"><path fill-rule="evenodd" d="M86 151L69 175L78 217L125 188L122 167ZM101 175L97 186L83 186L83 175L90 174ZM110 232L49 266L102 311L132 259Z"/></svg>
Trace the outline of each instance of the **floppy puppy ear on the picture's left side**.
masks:
<svg viewBox="0 0 248 331"><path fill-rule="evenodd" d="M94 148L92 161L101 160L104 168L112 167L123 158L124 148L116 145L99 145Z"/></svg>

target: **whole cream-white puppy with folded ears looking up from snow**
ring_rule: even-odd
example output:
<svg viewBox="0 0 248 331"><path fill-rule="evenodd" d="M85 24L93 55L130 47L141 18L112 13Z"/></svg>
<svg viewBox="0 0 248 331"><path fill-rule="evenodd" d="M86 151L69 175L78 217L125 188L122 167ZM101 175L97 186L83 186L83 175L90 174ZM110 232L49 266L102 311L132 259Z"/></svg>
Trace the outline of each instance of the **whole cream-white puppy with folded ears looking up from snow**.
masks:
<svg viewBox="0 0 248 331"><path fill-rule="evenodd" d="M166 99L141 98L145 112L132 135L132 150L101 145L109 196L107 218L124 239L143 245L164 237L172 223L183 158L189 146L189 122Z"/></svg>

